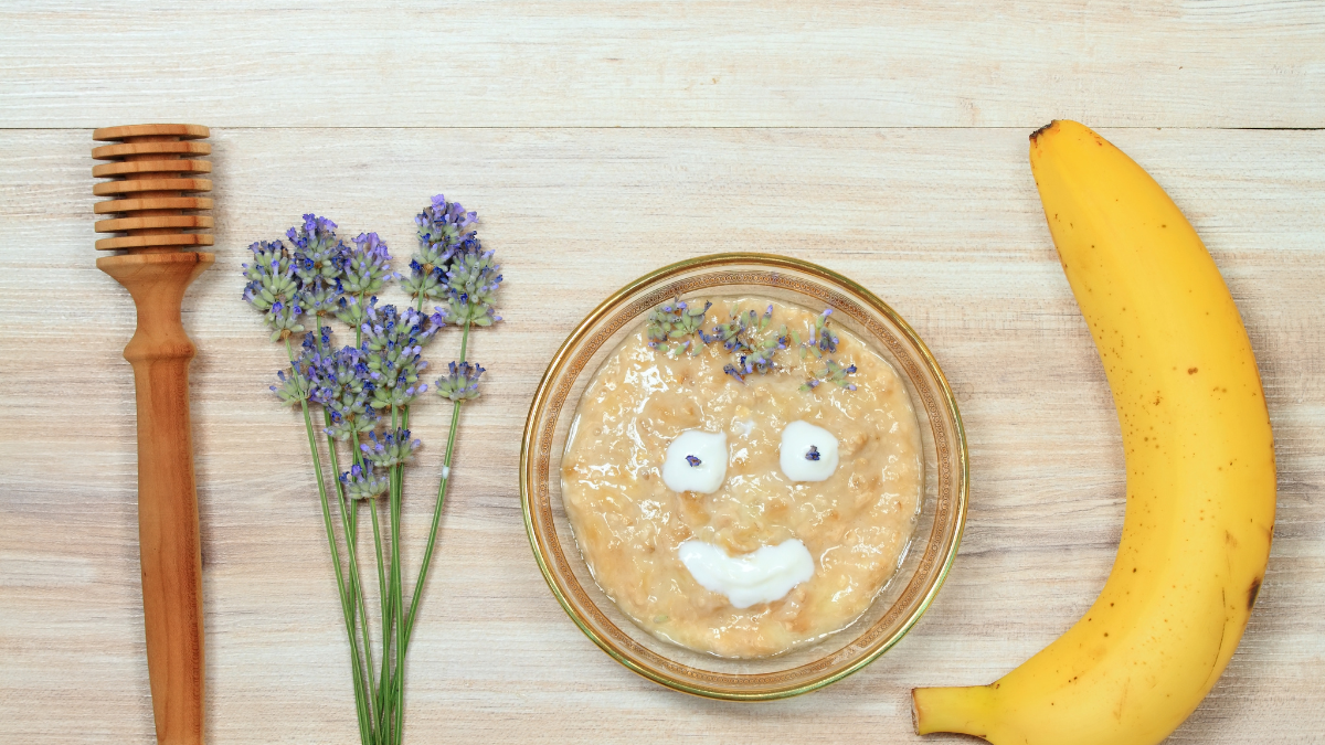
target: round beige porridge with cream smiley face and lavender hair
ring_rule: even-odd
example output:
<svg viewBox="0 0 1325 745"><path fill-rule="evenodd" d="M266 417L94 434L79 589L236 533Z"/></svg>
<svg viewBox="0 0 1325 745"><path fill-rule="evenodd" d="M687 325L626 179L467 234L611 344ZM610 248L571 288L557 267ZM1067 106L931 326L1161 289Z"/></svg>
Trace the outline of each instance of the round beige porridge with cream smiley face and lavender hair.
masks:
<svg viewBox="0 0 1325 745"><path fill-rule="evenodd" d="M920 427L888 361L825 314L763 298L660 309L590 382L562 459L603 591L655 636L722 658L859 618L922 490Z"/></svg>

